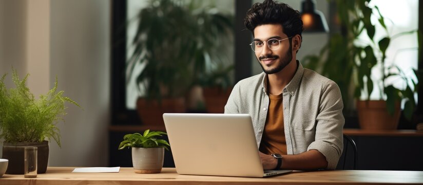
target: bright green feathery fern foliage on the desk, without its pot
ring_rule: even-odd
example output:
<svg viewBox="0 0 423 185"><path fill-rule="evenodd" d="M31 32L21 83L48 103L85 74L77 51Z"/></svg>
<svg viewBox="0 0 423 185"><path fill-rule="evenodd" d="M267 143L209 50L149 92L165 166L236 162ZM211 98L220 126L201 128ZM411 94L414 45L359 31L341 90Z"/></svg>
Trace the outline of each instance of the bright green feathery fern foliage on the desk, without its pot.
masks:
<svg viewBox="0 0 423 185"><path fill-rule="evenodd" d="M60 131L56 124L65 122L62 116L66 115L65 102L78 107L80 105L68 97L64 91L57 92L57 78L54 87L47 95L35 99L26 86L29 74L21 80L15 69L12 81L15 88L7 89L5 79L0 80L0 138L5 142L42 142L53 139L61 146Z"/></svg>

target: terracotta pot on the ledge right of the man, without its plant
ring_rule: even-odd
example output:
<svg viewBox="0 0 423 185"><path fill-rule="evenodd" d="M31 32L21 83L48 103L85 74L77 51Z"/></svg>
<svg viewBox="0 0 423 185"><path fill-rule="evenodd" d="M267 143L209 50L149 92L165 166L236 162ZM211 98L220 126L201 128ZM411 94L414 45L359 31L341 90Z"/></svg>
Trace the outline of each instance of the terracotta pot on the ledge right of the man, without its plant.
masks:
<svg viewBox="0 0 423 185"><path fill-rule="evenodd" d="M395 103L394 114L390 115L386 101L357 101L358 121L363 130L396 130L398 127L400 106Z"/></svg>

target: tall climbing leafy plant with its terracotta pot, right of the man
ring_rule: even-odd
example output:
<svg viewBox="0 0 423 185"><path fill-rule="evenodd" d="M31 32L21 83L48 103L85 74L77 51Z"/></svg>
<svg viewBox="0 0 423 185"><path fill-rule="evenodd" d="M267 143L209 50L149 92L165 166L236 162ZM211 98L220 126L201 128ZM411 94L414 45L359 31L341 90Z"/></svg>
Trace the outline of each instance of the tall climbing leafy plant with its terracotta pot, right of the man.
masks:
<svg viewBox="0 0 423 185"><path fill-rule="evenodd" d="M416 106L414 93L417 91L418 84L414 80L411 80L411 84L408 83L409 78L397 66L385 64L386 50L392 39L416 31L391 36L385 24L385 18L380 14L377 6L369 7L370 1L335 0L334 2L336 2L337 17L342 32L330 36L328 44L322 48L319 56L307 56L306 66L318 69L318 64L321 64L322 75L338 84L347 108L353 103L351 97L356 98L358 119L362 129L396 129L401 100L405 101L403 110L405 117L411 119L414 113ZM387 33L387 36L378 41L374 37L375 25L371 23L371 15L378 17L376 24L380 24ZM366 31L369 42L360 40L363 31ZM380 70L381 78L372 79L372 72L376 69ZM388 84L387 79L393 77L404 80L405 87L397 88ZM377 84L376 88L380 90L380 100L370 100L374 81Z"/></svg>

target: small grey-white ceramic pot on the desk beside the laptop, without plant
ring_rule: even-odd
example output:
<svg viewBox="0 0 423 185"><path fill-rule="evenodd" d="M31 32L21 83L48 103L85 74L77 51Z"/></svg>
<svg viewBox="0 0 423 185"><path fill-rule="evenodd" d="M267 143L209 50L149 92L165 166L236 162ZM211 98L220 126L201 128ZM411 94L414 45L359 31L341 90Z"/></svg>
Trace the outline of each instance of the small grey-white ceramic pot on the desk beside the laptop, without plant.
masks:
<svg viewBox="0 0 423 185"><path fill-rule="evenodd" d="M132 165L135 173L160 173L163 167L164 148L132 147Z"/></svg>

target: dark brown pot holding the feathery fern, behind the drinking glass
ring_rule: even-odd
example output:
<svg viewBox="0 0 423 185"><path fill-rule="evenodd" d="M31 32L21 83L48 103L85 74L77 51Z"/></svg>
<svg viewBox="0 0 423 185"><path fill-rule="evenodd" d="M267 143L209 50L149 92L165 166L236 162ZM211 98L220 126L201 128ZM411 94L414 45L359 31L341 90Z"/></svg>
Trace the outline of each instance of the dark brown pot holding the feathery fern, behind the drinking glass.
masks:
<svg viewBox="0 0 423 185"><path fill-rule="evenodd" d="M18 142L3 144L3 158L9 160L9 167L6 174L24 174L24 149L25 146L36 146L37 152L37 173L46 173L48 164L48 141L43 142Z"/></svg>

